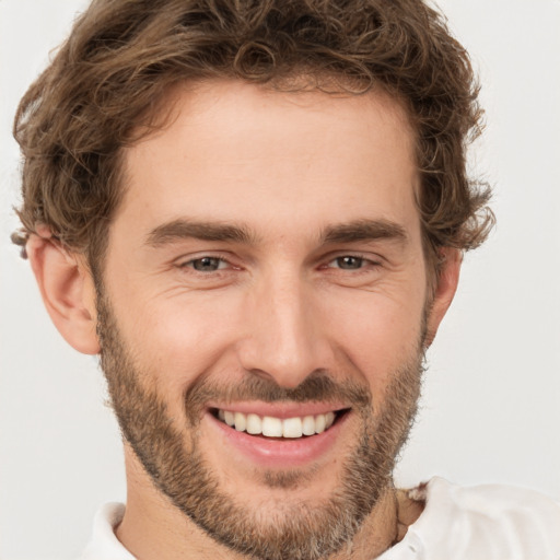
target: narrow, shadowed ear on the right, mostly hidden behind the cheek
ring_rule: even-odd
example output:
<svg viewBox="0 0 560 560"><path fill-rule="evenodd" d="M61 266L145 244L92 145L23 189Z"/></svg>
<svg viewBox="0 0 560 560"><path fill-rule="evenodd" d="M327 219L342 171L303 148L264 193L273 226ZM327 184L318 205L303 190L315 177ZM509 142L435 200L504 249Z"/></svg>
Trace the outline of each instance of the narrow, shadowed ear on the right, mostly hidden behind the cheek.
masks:
<svg viewBox="0 0 560 560"><path fill-rule="evenodd" d="M436 272L432 305L428 313L424 346L429 348L435 338L440 323L447 312L459 281L463 255L460 250L444 247L440 250L440 267Z"/></svg>

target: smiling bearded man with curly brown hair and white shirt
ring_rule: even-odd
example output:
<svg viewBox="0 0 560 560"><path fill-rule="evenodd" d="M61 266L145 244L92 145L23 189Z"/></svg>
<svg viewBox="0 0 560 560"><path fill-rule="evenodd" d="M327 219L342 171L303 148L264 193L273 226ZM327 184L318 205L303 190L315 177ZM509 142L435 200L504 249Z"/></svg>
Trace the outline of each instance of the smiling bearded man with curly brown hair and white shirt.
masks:
<svg viewBox="0 0 560 560"><path fill-rule="evenodd" d="M126 441L88 557L558 555L544 498L393 488L490 224L476 86L422 4L324 4L95 2L23 101L16 241Z"/></svg>

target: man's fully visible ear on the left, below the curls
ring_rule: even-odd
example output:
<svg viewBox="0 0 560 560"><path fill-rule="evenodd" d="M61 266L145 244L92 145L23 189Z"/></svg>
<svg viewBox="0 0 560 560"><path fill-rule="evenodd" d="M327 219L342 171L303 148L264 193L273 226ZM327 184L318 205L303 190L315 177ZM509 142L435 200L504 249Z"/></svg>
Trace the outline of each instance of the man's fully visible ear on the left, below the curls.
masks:
<svg viewBox="0 0 560 560"><path fill-rule="evenodd" d="M47 312L65 340L84 354L98 353L95 289L83 257L66 250L48 231L31 235L26 253Z"/></svg>

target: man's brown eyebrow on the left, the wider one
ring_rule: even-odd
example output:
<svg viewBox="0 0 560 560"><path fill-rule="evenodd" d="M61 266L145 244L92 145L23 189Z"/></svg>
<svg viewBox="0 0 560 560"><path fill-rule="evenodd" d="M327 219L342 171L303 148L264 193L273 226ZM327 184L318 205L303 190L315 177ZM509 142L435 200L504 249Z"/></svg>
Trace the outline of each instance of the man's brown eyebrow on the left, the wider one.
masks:
<svg viewBox="0 0 560 560"><path fill-rule="evenodd" d="M167 243L188 238L228 241L244 244L255 242L255 236L244 226L177 219L154 228L147 236L147 244L159 247Z"/></svg>

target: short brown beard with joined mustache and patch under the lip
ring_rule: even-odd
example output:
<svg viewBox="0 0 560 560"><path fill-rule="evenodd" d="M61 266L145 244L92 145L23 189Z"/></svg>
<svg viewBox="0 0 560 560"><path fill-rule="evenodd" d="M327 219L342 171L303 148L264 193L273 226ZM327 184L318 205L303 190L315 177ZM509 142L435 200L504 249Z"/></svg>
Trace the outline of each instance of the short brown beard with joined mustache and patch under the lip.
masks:
<svg viewBox="0 0 560 560"><path fill-rule="evenodd" d="M273 381L247 373L242 383L195 382L184 395L184 430L176 428L165 400L141 380L153 377L135 363L124 343L115 315L103 290L97 290L97 334L101 365L122 436L153 485L184 515L217 542L260 560L318 560L348 545L380 497L393 487L398 453L408 439L423 372L423 332L413 355L390 372L383 402L372 402L365 384L338 382L332 372L313 372L301 385L287 389ZM339 376L338 376L339 377ZM342 401L359 419L359 431L347 456L337 488L313 503L275 502L249 508L220 488L200 452L198 430L209 400ZM186 431L186 432L185 432ZM185 438L185 433L189 438ZM187 441L188 440L188 441ZM269 488L304 486L301 470L262 471L259 483Z"/></svg>

